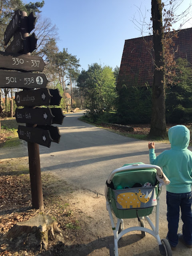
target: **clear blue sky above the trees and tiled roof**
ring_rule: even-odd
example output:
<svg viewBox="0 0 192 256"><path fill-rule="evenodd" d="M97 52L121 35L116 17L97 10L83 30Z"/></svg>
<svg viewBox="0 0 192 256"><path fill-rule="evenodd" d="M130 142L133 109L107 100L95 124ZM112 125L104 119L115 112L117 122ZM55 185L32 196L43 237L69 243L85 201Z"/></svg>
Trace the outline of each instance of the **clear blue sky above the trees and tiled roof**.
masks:
<svg viewBox="0 0 192 256"><path fill-rule="evenodd" d="M190 2L184 0L180 10ZM134 15L139 19L138 8L149 22L151 0L45 0L41 10L58 28L59 50L68 48L80 59L80 70L87 70L94 62L120 66L125 40L141 36L132 22Z"/></svg>

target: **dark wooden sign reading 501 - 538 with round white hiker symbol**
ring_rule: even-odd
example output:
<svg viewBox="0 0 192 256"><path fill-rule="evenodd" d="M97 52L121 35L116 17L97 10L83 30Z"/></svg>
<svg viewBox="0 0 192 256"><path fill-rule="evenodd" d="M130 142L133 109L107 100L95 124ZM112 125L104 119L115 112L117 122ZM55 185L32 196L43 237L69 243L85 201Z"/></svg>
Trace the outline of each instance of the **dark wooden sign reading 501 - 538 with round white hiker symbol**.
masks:
<svg viewBox="0 0 192 256"><path fill-rule="evenodd" d="M0 70L0 88L46 88L45 74Z"/></svg>

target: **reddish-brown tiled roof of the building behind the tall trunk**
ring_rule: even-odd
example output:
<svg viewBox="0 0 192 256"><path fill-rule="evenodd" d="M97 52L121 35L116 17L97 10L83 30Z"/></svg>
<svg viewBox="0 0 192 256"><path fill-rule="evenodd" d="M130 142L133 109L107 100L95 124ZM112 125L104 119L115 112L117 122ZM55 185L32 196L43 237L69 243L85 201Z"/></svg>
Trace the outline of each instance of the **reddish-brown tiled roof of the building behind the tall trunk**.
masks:
<svg viewBox="0 0 192 256"><path fill-rule="evenodd" d="M127 86L152 86L154 52L150 49L153 36L125 40L119 75ZM174 38L175 59L185 58L192 64L192 28L178 31Z"/></svg>

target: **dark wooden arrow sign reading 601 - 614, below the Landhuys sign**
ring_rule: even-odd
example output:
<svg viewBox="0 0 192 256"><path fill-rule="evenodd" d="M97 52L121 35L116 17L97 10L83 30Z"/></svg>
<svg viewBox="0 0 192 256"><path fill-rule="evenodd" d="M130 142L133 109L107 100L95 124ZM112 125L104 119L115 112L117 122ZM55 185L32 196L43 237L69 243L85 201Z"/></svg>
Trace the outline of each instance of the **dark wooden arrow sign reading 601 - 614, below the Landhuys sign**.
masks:
<svg viewBox="0 0 192 256"><path fill-rule="evenodd" d="M50 108L16 108L15 118L18 123L51 125L54 116Z"/></svg>

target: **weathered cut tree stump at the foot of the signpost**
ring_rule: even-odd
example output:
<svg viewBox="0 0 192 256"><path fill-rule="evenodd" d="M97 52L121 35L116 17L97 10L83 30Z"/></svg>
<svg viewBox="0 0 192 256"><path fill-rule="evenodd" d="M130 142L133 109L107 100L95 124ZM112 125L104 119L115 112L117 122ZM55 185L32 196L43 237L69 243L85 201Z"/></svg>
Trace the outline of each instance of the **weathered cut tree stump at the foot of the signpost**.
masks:
<svg viewBox="0 0 192 256"><path fill-rule="evenodd" d="M49 239L55 238L54 232L62 236L56 220L52 216L42 213L27 221L17 222L1 240L17 239L16 244L24 244L28 248L37 248L41 251L47 249Z"/></svg>

